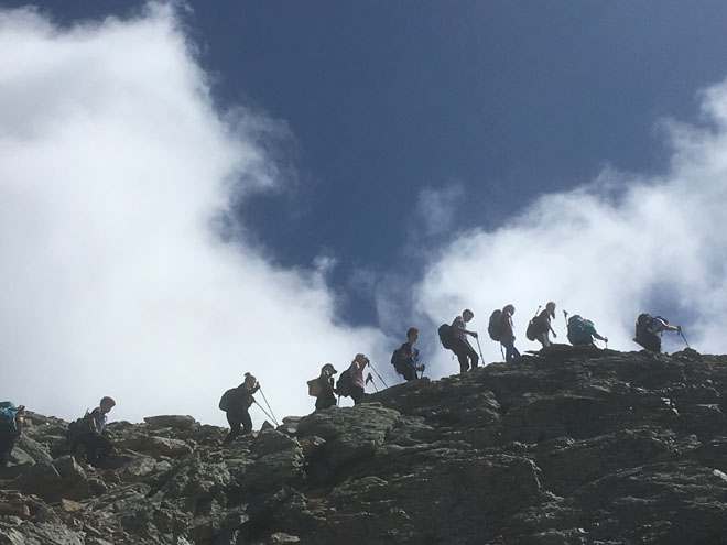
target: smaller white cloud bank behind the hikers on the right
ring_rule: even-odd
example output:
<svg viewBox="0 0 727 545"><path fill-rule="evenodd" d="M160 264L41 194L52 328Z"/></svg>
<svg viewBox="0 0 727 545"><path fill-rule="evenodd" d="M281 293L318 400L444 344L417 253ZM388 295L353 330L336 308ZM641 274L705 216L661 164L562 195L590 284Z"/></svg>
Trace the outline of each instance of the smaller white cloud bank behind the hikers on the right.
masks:
<svg viewBox="0 0 727 545"><path fill-rule="evenodd" d="M522 351L539 348L524 338L528 319L555 301L557 340L565 341L566 309L592 318L609 348L636 350L643 310L684 326L701 351L727 351L727 84L702 98L699 127L663 123L673 152L665 174L607 170L589 185L542 196L497 231L460 233L417 286L422 317L440 323L468 306L473 328L487 336L490 312L512 303ZM501 359L497 344L481 345L487 361ZM665 334L665 350L683 347ZM438 356L436 369L457 364Z"/></svg>

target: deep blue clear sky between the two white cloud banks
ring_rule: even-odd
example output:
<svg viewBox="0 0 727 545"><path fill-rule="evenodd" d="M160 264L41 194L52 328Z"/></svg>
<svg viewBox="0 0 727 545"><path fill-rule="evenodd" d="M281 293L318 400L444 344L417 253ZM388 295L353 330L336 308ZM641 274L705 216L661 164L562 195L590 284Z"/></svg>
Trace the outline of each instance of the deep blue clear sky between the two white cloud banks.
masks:
<svg viewBox="0 0 727 545"><path fill-rule="evenodd" d="M142 3L36 4L69 23ZM460 184L457 227L495 228L606 164L659 171L654 123L694 116L696 89L727 75L720 1L188 6L219 105L289 129L278 144L297 183L246 199L240 216L284 265L334 255L354 324L377 323L358 270L416 270L406 246L440 242L410 235L422 187Z"/></svg>

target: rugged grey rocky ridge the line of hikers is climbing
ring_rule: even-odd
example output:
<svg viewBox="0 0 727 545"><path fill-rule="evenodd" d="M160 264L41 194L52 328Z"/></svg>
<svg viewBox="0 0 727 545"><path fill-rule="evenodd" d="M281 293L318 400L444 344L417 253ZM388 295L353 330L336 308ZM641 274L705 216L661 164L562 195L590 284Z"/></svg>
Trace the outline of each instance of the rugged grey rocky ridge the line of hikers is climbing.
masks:
<svg viewBox="0 0 727 545"><path fill-rule="evenodd" d="M229 448L189 416L113 423L107 469L33 414L0 545L726 539L727 357L554 346L366 401Z"/></svg>

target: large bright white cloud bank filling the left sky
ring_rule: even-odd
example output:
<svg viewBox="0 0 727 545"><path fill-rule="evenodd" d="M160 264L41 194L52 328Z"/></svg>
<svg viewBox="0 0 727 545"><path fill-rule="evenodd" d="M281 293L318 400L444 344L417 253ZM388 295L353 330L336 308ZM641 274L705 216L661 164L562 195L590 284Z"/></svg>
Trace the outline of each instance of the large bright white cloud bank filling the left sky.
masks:
<svg viewBox="0 0 727 545"><path fill-rule="evenodd" d="M72 29L0 11L0 397L223 423L249 370L280 418L310 412L323 363L381 345L332 321L314 269L215 235L232 192L284 181L270 122L214 109L172 8Z"/></svg>

